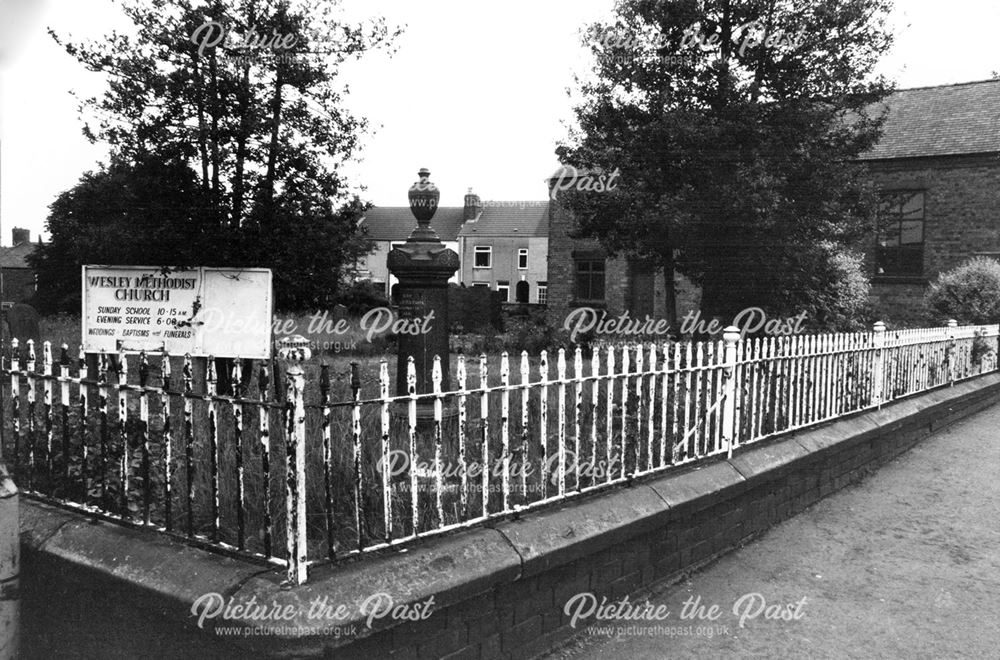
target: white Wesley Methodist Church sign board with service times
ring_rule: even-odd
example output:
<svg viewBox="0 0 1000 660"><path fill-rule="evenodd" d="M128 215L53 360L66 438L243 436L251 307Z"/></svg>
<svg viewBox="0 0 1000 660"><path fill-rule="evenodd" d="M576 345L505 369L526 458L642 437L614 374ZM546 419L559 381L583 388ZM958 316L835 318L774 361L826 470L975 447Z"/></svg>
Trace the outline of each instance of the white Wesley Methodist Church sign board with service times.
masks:
<svg viewBox="0 0 1000 660"><path fill-rule="evenodd" d="M271 357L271 271L83 267L83 347Z"/></svg>

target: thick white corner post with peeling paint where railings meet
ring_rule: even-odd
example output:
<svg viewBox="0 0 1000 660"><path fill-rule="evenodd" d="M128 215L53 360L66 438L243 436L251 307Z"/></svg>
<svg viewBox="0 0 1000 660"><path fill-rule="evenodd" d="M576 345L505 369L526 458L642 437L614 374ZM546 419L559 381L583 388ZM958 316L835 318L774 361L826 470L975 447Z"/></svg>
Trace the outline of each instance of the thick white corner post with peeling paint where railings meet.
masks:
<svg viewBox="0 0 1000 660"><path fill-rule="evenodd" d="M286 547L288 551L288 581L306 581L308 543L306 538L306 408L305 372L299 364L291 364L286 372L287 464L285 466Z"/></svg>

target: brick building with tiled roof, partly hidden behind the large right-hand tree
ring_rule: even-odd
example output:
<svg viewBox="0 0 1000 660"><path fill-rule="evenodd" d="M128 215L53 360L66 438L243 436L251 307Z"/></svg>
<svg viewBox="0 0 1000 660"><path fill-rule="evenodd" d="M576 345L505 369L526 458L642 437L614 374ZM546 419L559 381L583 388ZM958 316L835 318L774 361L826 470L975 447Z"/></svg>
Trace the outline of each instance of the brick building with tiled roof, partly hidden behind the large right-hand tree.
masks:
<svg viewBox="0 0 1000 660"><path fill-rule="evenodd" d="M1000 80L899 90L885 105L882 139L859 159L890 214L872 228L872 302L887 321L924 322L922 298L938 273L977 255L1000 258ZM573 227L553 203L550 322L579 306L662 318L662 277L608 259L596 241L571 238ZM683 317L700 295L685 278L675 282Z"/></svg>

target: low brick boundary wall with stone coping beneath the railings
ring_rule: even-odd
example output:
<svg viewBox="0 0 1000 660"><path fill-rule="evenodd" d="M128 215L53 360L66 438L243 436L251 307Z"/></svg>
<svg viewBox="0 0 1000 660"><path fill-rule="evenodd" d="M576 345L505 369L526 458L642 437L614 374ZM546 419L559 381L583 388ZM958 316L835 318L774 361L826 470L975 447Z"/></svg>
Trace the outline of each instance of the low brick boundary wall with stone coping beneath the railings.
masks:
<svg viewBox="0 0 1000 660"><path fill-rule="evenodd" d="M591 592L611 600L675 580L997 401L1000 374L973 378L748 446L729 460L637 480L403 552L319 566L307 584L293 588L282 586L279 569L26 499L25 566L47 580L72 576L127 593L175 622L178 632L211 636L212 644L223 641L216 626L251 629L225 637L234 654L528 658L576 632L563 614L571 596ZM22 582L30 589L32 576L23 573ZM266 625L312 634L254 634L261 621L247 613L207 620L199 630L192 605L210 592L237 605L276 604L289 616ZM374 594L420 620L376 617L369 626ZM324 619L317 603L328 613L341 609ZM128 623L121 628L128 630Z"/></svg>

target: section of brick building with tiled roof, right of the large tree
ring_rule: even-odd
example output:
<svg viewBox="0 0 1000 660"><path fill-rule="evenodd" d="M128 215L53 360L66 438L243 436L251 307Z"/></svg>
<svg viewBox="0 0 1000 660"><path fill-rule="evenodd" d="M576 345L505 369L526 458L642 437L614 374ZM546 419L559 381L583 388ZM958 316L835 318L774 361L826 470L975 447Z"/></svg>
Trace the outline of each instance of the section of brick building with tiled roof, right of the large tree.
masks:
<svg viewBox="0 0 1000 660"><path fill-rule="evenodd" d="M929 281L976 255L1000 257L1000 80L904 89L861 158L888 221L869 253L872 302L918 321Z"/></svg>

